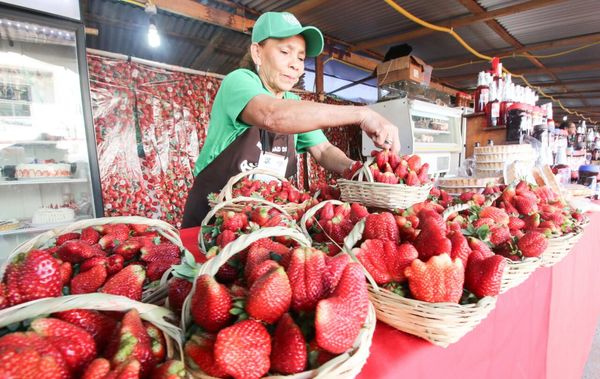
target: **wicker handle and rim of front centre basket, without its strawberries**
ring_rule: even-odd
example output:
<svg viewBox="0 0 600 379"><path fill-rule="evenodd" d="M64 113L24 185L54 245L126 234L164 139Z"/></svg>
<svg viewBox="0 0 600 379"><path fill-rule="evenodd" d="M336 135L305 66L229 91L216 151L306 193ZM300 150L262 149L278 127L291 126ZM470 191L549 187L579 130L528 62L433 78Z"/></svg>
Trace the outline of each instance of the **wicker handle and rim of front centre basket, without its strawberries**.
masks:
<svg viewBox="0 0 600 379"><path fill-rule="evenodd" d="M239 237L235 241L229 243L225 248L214 258L210 259L204 265L200 267L198 272L198 276L203 274L215 275L219 268L225 264L231 257L237 254L240 251L243 251L252 243L258 241L262 238L270 238L276 236L289 236L296 240L298 243L304 246L310 246L308 240L295 229L283 228L283 227L273 227L273 228L264 228L260 229L252 234L247 234ZM194 281L194 286L190 293L194 293L196 288L196 283ZM182 328L185 330L191 324L191 314L190 314L190 302L191 295L188 296L185 300L182 312ZM369 304L369 313L367 315L367 319L365 321L365 325L360 332L358 338L356 339L354 346L348 352L337 356L336 358L328 361L323 366L320 366L317 369L304 371L295 375L288 376L268 376L265 378L286 378L286 379L304 379L304 378L354 378L362 367L367 362L367 358L369 357L369 349L371 346L371 341L373 339L373 333L375 331L375 310L373 306ZM189 370L189 369L188 369ZM201 371L193 371L189 370L190 375L193 378L201 378L201 379L214 379L211 376L204 374Z"/></svg>

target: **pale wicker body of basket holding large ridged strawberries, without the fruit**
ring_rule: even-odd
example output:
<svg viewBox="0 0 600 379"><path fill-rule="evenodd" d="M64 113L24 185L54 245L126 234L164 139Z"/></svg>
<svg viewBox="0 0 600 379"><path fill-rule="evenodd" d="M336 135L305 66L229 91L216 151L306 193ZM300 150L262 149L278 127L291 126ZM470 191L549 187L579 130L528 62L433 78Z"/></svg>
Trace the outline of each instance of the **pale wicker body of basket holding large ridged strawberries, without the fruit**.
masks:
<svg viewBox="0 0 600 379"><path fill-rule="evenodd" d="M447 214L459 211L449 210ZM362 239L364 220L359 221L344 241L344 250L356 261L352 248ZM366 271L366 270L365 270ZM408 299L384 288L369 278L369 298L377 318L400 331L415 335L434 345L447 347L473 330L496 306L495 297L484 297L476 304L428 303Z"/></svg>

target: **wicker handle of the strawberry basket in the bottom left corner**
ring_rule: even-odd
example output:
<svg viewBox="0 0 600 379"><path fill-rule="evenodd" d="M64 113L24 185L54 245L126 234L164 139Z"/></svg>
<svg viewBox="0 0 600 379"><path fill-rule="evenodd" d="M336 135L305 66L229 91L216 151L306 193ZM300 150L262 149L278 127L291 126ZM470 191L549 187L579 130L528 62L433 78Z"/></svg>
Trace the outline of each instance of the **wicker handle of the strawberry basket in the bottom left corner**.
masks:
<svg viewBox="0 0 600 379"><path fill-rule="evenodd" d="M163 332L167 359L181 359L183 356L181 329L173 324L176 315L158 305L140 303L124 296L91 293L38 299L18 304L0 311L0 328L34 317L71 309L126 312L134 308L138 310L142 320L154 324Z"/></svg>

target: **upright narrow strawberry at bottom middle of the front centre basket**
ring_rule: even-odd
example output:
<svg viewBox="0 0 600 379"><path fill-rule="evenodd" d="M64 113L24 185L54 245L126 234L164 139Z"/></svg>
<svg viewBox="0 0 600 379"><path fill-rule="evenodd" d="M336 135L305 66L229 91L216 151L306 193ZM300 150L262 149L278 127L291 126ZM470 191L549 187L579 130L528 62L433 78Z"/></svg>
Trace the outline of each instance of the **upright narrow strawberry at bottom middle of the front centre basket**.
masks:
<svg viewBox="0 0 600 379"><path fill-rule="evenodd" d="M273 334L271 370L284 375L296 374L305 370L306 363L306 341L292 316L286 313Z"/></svg>

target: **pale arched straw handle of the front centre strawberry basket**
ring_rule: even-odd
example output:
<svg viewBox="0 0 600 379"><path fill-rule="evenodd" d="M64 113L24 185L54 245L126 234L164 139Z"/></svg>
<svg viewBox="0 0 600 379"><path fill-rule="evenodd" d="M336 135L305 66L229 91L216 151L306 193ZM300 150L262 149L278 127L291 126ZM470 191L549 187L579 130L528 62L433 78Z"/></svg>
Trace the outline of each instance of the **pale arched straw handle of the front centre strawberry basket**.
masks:
<svg viewBox="0 0 600 379"><path fill-rule="evenodd" d="M263 238L279 237L279 236L290 237L293 240L295 240L296 242L298 242L301 246L310 246L310 242L306 239L304 234L302 234L299 230L292 229L292 228L284 228L281 226L263 228L263 229L259 229L259 230L255 231L253 233L242 235L235 241L230 242L229 244L227 244L227 246L225 246L225 248L223 248L223 250L221 250L219 252L219 254L217 254L215 257L209 259L202 266L200 266L200 268L198 269L196 278L194 279L194 285L192 287L192 290L190 291L190 295L188 295L188 297L185 299L185 302L183 304L183 312L181 315L181 322L182 322L182 327L184 328L184 333L185 333L186 326L189 325L189 323L191 322L191 318L190 318L191 298L192 298L192 294L196 291L196 280L198 279L198 277L201 275L204 275L204 274L215 276L217 274L217 272L219 271L219 268L221 268L221 266L223 266L231 257L233 257L234 255L236 255L237 253L239 253L241 251L244 251L246 248L248 248L254 242L256 242L260 239L263 239Z"/></svg>

